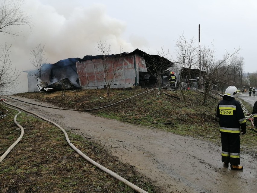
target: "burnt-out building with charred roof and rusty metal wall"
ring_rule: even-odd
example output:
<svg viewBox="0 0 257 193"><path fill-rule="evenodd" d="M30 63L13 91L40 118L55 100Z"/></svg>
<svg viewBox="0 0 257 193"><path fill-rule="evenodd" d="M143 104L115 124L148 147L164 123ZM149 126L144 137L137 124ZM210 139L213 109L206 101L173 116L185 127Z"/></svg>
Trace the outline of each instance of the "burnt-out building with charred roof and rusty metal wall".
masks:
<svg viewBox="0 0 257 193"><path fill-rule="evenodd" d="M154 59L154 60L153 60ZM150 63L151 61L151 63ZM165 65L160 65L165 61ZM152 68L152 63L159 68ZM36 70L27 70L28 92L128 88L132 86L155 86L157 72L169 71L174 64L157 55L149 55L139 49L116 55L86 55L83 59L69 58L55 64L44 64L41 77L35 78ZM161 76L163 83L165 76Z"/></svg>

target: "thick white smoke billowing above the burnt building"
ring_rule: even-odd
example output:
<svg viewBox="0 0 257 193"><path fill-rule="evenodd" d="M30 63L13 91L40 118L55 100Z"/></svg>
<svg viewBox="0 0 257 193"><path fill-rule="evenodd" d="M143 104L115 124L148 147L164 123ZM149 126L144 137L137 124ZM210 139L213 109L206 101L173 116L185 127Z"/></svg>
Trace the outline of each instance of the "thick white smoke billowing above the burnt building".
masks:
<svg viewBox="0 0 257 193"><path fill-rule="evenodd" d="M113 53L132 52L147 44L142 37L134 40L136 47L126 42L122 34L126 24L106 14L106 6L93 4L87 7L67 9L68 14L61 15L49 5L43 5L39 0L26 0L22 10L31 16L32 31L28 26L14 27L12 30L21 31L20 36L9 36L1 33L1 45L11 44L11 62L18 70L34 69L30 64L30 50L38 43L45 44L47 62L56 63L67 58L83 58L85 55L100 54L95 48L101 39L111 44ZM135 38L134 38L135 39ZM142 43L142 44L141 44ZM141 45L140 45L141 44ZM141 47L138 47L141 46ZM27 73L20 76L18 92L27 92Z"/></svg>

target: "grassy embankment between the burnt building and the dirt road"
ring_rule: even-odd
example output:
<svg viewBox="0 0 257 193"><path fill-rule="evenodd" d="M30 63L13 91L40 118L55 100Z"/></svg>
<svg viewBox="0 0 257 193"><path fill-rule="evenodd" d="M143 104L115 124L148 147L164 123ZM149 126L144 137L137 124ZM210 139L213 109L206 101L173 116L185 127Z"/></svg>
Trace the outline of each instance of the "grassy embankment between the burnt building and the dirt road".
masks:
<svg viewBox="0 0 257 193"><path fill-rule="evenodd" d="M118 102L144 91L146 89L113 89L111 91L111 102L107 101L106 90L103 89L67 90L65 96L62 96L61 91L21 93L18 95L51 103L62 108L92 109ZM88 111L88 113L220 143L219 125L215 120L215 114L221 96L215 95L215 99L208 97L206 104L202 105L204 94L201 91L188 90L184 92L187 104L187 107L185 107L179 90L163 90L163 92L180 99L165 94L159 95L158 90L152 90L107 108ZM236 99L240 100L239 98ZM252 112L252 107L244 101L242 102L246 109ZM163 124L168 122L171 123ZM257 135L253 132L250 121L247 121L247 126L247 135L241 136L242 147L245 147L242 150L256 150Z"/></svg>

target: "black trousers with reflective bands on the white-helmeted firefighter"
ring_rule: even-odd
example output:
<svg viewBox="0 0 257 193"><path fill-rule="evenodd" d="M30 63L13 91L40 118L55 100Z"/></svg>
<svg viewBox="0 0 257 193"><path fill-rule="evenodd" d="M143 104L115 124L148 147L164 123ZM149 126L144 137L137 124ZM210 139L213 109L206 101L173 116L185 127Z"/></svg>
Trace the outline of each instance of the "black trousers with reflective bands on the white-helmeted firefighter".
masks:
<svg viewBox="0 0 257 193"><path fill-rule="evenodd" d="M240 134L221 132L221 151L222 162L240 164Z"/></svg>

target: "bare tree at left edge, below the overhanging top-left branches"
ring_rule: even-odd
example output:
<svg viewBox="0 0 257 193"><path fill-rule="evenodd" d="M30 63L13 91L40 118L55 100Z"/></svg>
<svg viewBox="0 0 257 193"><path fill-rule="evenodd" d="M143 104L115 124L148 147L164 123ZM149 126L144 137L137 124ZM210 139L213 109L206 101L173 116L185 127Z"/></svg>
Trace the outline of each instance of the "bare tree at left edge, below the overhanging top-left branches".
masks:
<svg viewBox="0 0 257 193"><path fill-rule="evenodd" d="M12 93L17 87L17 79L21 72L12 68L9 55L11 46L5 43L5 47L0 50L0 95Z"/></svg>

